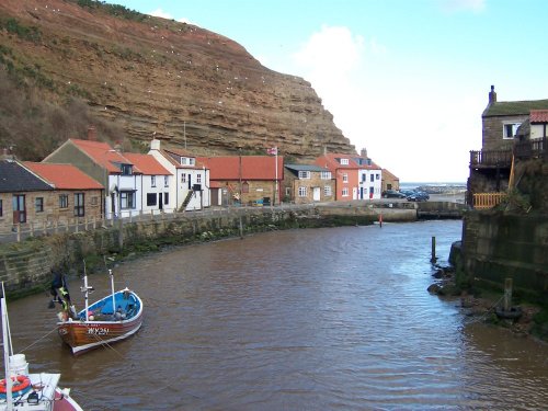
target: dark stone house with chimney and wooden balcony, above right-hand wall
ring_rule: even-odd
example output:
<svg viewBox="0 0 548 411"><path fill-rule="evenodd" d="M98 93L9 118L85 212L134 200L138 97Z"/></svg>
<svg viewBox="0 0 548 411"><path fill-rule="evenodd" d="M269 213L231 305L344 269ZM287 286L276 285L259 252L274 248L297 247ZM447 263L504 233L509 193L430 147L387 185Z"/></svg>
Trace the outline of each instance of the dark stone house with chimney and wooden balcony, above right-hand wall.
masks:
<svg viewBox="0 0 548 411"><path fill-rule="evenodd" d="M538 110L548 110L548 100L498 101L491 85L488 105L481 115L481 150L470 151L468 204L473 204L476 193L507 190L516 134L522 124L528 127L532 111Z"/></svg>

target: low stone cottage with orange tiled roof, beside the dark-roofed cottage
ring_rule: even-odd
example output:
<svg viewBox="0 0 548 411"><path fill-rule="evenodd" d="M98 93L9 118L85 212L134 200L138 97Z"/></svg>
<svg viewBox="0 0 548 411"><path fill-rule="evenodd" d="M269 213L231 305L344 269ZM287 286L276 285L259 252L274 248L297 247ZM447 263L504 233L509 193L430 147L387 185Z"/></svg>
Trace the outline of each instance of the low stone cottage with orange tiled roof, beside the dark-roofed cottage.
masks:
<svg viewBox="0 0 548 411"><path fill-rule="evenodd" d="M54 187L41 204L35 198L35 210L48 221L75 217L101 219L101 198L104 187L72 164L52 164L25 161L23 164Z"/></svg>

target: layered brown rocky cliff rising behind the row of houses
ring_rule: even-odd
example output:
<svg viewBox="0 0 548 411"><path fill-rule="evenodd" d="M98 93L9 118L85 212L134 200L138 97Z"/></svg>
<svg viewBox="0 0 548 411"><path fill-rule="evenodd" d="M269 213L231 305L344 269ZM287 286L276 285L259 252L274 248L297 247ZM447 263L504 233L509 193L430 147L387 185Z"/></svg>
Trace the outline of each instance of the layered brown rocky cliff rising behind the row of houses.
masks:
<svg viewBox="0 0 548 411"><path fill-rule="evenodd" d="M355 152L310 83L207 30L91 0L2 0L0 24L0 67L45 99L85 100L142 146Z"/></svg>

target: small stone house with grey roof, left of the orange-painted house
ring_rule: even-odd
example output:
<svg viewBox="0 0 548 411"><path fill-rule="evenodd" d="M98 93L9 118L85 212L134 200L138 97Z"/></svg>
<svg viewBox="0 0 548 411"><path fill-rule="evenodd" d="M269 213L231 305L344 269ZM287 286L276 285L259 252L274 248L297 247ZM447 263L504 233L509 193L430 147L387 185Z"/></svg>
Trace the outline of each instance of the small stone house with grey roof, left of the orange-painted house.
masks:
<svg viewBox="0 0 548 411"><path fill-rule="evenodd" d="M284 168L284 202L306 204L335 199L334 180L329 169L313 164L285 164Z"/></svg>

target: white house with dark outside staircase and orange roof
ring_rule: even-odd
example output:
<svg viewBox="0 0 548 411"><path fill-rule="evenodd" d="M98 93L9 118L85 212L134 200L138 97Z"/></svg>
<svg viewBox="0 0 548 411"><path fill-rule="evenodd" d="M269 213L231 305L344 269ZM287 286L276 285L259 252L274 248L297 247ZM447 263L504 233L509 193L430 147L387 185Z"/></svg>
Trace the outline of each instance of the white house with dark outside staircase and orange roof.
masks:
<svg viewBox="0 0 548 411"><path fill-rule="evenodd" d="M160 140L150 141L153 156L172 175L170 196L178 210L204 209L210 206L209 170L185 150L162 149ZM170 199L171 201L171 199Z"/></svg>

